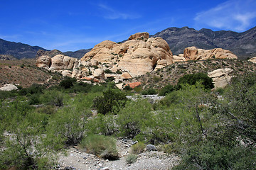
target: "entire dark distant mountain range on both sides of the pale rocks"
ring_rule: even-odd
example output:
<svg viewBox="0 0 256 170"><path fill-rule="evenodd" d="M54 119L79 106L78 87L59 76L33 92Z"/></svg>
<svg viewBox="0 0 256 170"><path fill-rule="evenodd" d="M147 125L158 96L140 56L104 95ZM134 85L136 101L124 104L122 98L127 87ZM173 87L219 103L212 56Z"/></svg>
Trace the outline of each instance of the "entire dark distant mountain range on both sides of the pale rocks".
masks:
<svg viewBox="0 0 256 170"><path fill-rule="evenodd" d="M195 46L204 50L220 47L232 51L240 59L256 56L256 27L243 33L230 30L213 31L206 28L195 30L188 27L172 27L151 35L151 37L161 37L166 40L174 55L183 53L186 47ZM0 39L0 55L11 55L17 59L34 58L38 50L47 51L43 47ZM80 59L90 50L68 51L63 54Z"/></svg>

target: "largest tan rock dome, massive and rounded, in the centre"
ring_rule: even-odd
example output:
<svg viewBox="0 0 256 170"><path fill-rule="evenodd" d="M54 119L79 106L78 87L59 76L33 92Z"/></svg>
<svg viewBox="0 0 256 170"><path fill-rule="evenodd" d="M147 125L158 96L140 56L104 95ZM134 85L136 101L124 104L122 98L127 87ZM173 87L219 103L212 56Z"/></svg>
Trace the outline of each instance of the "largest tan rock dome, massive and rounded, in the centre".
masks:
<svg viewBox="0 0 256 170"><path fill-rule="evenodd" d="M162 38L149 38L148 33L131 35L129 40L122 44L109 40L100 42L81 59L81 61L92 60L110 64L112 72L117 70L129 72L131 77L173 63L167 42Z"/></svg>

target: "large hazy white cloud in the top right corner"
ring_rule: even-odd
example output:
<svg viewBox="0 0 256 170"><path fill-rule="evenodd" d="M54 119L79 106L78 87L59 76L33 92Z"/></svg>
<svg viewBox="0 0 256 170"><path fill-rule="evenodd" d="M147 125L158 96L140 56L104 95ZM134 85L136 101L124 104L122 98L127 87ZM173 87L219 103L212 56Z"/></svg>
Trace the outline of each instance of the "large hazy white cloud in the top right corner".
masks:
<svg viewBox="0 0 256 170"><path fill-rule="evenodd" d="M196 14L196 27L245 31L256 21L255 0L229 0Z"/></svg>

